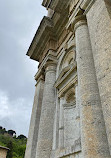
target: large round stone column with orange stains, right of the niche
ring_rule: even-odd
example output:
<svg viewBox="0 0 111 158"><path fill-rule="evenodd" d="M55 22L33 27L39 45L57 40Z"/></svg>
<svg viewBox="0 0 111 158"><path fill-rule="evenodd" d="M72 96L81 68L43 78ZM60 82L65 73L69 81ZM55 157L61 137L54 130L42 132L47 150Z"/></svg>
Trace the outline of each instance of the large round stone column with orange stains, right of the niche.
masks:
<svg viewBox="0 0 111 158"><path fill-rule="evenodd" d="M80 17L78 17L80 18ZM109 149L87 22L75 24L78 86L81 99L81 140L83 157L108 158Z"/></svg>

